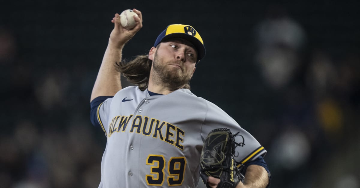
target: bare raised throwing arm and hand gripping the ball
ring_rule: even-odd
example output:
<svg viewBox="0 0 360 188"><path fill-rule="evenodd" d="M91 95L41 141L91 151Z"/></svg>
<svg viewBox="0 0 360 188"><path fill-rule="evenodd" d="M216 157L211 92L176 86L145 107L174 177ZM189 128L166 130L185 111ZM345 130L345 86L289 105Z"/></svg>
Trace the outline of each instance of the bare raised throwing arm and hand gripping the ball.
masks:
<svg viewBox="0 0 360 188"><path fill-rule="evenodd" d="M121 61L121 52L125 43L143 27L141 12L136 9L133 9L133 11L139 15L139 17L134 16L136 26L133 29L128 30L121 26L119 14L115 14L115 17L111 20L114 23L114 29L110 34L109 43L91 92L90 101L98 96L113 96L122 89L120 73L116 71L114 64Z"/></svg>

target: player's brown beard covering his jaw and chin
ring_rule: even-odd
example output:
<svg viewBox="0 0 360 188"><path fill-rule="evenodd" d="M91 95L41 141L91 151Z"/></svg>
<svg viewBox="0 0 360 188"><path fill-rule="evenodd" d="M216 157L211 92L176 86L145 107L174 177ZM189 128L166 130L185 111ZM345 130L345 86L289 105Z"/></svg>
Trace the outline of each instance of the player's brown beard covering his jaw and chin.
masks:
<svg viewBox="0 0 360 188"><path fill-rule="evenodd" d="M169 64L178 64L180 68L169 66ZM153 60L154 82L161 84L170 91L182 88L189 83L192 73L186 73L182 62L164 62L155 52Z"/></svg>

